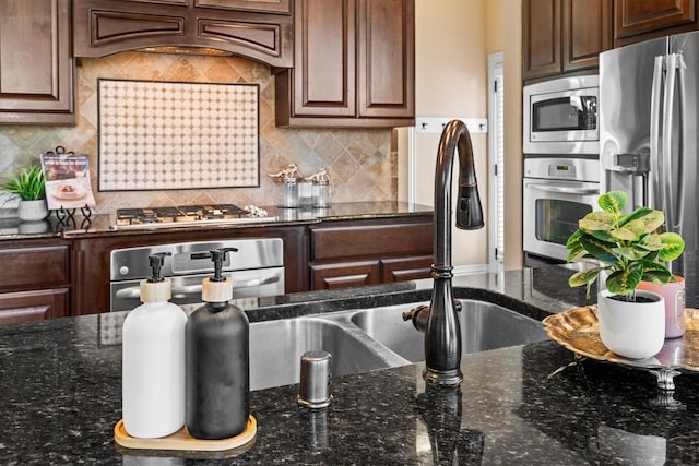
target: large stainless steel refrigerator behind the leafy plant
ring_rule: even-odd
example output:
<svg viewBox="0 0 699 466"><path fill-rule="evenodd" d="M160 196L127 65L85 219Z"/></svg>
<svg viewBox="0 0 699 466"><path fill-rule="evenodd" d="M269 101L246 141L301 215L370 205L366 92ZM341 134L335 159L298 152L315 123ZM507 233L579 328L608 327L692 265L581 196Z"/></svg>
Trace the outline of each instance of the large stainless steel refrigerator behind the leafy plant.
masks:
<svg viewBox="0 0 699 466"><path fill-rule="evenodd" d="M699 246L699 32L600 55L601 191L665 213L686 250Z"/></svg>

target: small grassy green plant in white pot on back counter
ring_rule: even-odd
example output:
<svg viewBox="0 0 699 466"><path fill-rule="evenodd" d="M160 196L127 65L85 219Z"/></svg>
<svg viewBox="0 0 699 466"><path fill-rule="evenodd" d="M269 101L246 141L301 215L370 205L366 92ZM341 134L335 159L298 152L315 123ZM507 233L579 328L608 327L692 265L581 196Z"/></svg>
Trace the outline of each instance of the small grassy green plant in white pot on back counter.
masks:
<svg viewBox="0 0 699 466"><path fill-rule="evenodd" d="M17 216L21 220L43 220L48 216L46 178L40 165L31 164L19 174L8 176L0 188L20 196Z"/></svg>

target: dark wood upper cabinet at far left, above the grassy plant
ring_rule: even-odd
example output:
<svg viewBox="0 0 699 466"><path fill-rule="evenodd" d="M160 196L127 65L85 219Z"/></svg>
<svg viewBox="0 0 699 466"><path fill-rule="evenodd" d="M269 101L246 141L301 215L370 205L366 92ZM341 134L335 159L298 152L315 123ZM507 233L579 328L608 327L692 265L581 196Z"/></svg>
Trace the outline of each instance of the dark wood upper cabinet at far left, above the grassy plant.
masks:
<svg viewBox="0 0 699 466"><path fill-rule="evenodd" d="M74 123L70 0L0 0L0 123Z"/></svg>

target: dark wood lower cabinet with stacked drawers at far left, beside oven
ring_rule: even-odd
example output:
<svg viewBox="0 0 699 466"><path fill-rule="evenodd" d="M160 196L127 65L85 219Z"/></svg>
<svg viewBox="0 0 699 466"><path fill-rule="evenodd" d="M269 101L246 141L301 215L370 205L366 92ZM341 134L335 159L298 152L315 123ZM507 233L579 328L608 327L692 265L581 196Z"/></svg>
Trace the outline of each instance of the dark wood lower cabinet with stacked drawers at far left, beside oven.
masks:
<svg viewBox="0 0 699 466"><path fill-rule="evenodd" d="M70 246L4 241L0 249L0 324L62 318L70 310Z"/></svg>

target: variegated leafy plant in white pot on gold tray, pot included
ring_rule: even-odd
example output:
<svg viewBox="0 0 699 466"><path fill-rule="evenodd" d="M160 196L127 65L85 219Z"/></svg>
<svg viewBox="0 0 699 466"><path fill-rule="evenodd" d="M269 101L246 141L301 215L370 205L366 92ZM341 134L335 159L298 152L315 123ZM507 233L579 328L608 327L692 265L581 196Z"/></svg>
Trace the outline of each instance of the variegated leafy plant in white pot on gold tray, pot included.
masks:
<svg viewBox="0 0 699 466"><path fill-rule="evenodd" d="M685 241L674 232L659 234L665 215L639 207L624 214L628 196L621 191L602 194L602 211L579 222L566 243L568 262L592 259L596 265L577 272L568 280L572 287L587 286L587 296L601 276L604 288L597 294L597 319L602 343L619 356L644 359L655 356L665 340L665 303L659 295L639 290L641 282L666 284L675 277L661 261L673 261L684 251Z"/></svg>

